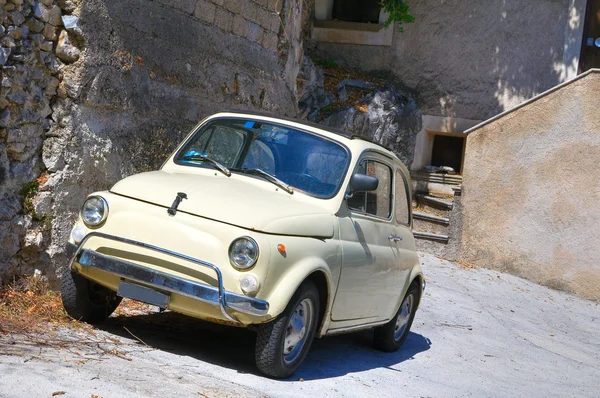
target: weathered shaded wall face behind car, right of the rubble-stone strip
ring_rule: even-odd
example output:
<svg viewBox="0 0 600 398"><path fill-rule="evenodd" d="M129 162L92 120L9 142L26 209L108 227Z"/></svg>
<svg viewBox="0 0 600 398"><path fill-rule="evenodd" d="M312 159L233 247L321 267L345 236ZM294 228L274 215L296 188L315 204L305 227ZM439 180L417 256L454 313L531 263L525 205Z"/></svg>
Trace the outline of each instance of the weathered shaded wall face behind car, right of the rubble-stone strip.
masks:
<svg viewBox="0 0 600 398"><path fill-rule="evenodd" d="M157 168L203 117L232 108L296 114L294 88L286 83L295 81L289 76L294 68L286 64L297 56L290 48L297 49L280 48L296 1L63 3L79 20L79 29L69 32L78 58L57 71L60 85L35 154L38 166L27 174L41 173L30 200L51 222L20 229L10 270L0 264L4 275L33 268L51 278L60 274L64 244L86 195ZM22 198L11 195L14 211L23 213Z"/></svg>

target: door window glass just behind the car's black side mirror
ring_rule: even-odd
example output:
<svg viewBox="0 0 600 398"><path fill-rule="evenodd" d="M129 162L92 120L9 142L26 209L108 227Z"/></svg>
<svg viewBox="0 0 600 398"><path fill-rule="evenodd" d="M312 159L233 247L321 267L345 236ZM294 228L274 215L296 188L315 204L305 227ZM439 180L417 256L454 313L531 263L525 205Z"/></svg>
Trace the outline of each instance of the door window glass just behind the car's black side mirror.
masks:
<svg viewBox="0 0 600 398"><path fill-rule="evenodd" d="M356 173L377 177L379 186L375 191L355 193L348 199L348 208L389 218L392 209L392 169L375 160L363 160Z"/></svg>

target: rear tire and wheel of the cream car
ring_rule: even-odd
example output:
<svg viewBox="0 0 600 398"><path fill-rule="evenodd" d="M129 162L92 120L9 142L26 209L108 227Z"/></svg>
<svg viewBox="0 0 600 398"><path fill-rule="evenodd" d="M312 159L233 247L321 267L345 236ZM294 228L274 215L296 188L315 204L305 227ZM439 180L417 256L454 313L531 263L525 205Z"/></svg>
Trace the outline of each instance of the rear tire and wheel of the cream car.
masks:
<svg viewBox="0 0 600 398"><path fill-rule="evenodd" d="M375 328L373 338L375 348L385 352L394 352L402 347L415 319L418 302L419 288L413 284L406 292L396 315L385 325Z"/></svg>

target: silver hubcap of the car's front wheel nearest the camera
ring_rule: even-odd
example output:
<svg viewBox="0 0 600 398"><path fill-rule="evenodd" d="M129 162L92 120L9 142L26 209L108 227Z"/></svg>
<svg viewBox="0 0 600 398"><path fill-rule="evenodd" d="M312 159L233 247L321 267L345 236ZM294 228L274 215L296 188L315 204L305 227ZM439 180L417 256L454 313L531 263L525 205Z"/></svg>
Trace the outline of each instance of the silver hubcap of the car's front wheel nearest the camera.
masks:
<svg viewBox="0 0 600 398"><path fill-rule="evenodd" d="M283 360L286 364L293 363L300 356L312 327L313 312L312 301L304 299L292 313L283 340Z"/></svg>

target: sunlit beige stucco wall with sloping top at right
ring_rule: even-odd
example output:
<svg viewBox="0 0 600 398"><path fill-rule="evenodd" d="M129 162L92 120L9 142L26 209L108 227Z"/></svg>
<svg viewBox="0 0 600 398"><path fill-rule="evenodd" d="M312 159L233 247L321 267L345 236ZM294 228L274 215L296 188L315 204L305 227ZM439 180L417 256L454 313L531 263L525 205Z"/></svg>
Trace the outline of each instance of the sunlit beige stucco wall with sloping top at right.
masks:
<svg viewBox="0 0 600 398"><path fill-rule="evenodd" d="M600 71L467 139L460 257L600 300Z"/></svg>

